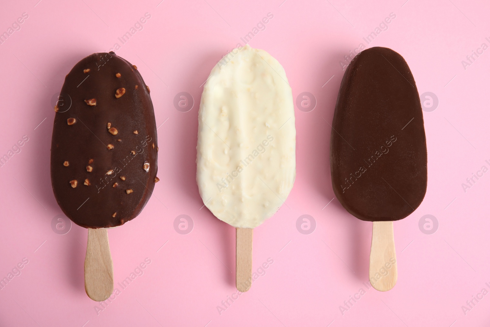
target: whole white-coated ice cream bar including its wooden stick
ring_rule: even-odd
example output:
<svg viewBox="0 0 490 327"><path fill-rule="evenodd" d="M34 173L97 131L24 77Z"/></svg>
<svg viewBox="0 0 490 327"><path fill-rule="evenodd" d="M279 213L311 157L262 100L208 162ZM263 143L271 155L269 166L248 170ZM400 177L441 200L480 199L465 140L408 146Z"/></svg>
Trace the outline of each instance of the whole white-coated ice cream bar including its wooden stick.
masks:
<svg viewBox="0 0 490 327"><path fill-rule="evenodd" d="M235 49L211 71L198 114L197 185L236 227L236 286L252 279L253 228L284 203L296 175L294 106L283 67L264 50Z"/></svg>

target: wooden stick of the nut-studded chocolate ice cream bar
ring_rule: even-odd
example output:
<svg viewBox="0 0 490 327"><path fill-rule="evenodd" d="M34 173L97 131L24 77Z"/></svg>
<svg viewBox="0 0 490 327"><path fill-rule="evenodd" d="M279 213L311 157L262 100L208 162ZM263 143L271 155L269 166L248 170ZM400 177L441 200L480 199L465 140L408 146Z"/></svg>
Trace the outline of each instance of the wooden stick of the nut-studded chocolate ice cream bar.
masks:
<svg viewBox="0 0 490 327"><path fill-rule="evenodd" d="M85 292L94 301L105 301L114 289L111 251L106 228L88 228L85 254Z"/></svg>

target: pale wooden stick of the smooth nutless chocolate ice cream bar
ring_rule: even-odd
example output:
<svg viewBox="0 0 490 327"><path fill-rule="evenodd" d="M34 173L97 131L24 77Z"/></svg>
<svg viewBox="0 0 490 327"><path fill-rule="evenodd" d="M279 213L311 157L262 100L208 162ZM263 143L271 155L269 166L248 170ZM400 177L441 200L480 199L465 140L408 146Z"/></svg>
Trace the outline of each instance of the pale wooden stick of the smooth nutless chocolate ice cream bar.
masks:
<svg viewBox="0 0 490 327"><path fill-rule="evenodd" d="M393 222L373 222L369 282L378 291L389 291L398 278Z"/></svg>

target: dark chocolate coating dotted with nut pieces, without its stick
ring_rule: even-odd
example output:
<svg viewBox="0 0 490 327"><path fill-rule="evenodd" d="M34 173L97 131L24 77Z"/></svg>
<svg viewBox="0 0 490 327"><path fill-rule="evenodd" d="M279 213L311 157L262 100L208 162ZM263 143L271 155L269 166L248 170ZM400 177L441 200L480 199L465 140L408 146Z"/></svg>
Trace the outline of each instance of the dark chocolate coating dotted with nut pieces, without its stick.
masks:
<svg viewBox="0 0 490 327"><path fill-rule="evenodd" d="M94 53L66 76L59 99L51 140L56 201L77 225L123 225L146 205L157 173L155 115L143 78L114 52Z"/></svg>

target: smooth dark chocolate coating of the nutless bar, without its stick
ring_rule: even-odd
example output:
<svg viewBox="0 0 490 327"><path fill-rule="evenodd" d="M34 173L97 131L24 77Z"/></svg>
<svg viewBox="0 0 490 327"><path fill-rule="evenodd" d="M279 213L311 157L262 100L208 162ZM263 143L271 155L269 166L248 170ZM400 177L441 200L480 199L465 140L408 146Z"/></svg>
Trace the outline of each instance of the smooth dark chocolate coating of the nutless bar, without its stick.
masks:
<svg viewBox="0 0 490 327"><path fill-rule="evenodd" d="M330 163L337 199L365 221L410 215L427 188L427 146L414 77L388 48L359 53L343 75Z"/></svg>

